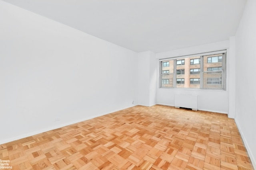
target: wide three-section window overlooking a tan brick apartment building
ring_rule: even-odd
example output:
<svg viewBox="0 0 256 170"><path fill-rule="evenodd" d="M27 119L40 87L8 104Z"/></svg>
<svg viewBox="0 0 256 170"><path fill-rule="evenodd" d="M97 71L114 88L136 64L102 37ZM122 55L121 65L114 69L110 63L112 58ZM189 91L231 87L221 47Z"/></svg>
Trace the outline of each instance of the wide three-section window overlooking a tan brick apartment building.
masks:
<svg viewBox="0 0 256 170"><path fill-rule="evenodd" d="M160 60L160 88L226 89L226 50Z"/></svg>

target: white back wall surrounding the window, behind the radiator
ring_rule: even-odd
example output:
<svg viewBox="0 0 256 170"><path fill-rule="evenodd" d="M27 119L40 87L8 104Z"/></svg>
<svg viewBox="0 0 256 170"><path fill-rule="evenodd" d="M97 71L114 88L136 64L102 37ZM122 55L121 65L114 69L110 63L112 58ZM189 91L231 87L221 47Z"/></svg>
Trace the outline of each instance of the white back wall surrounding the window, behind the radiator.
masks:
<svg viewBox="0 0 256 170"><path fill-rule="evenodd" d="M228 49L229 50L229 41L221 41L216 43L210 43L205 45L199 45L194 47L189 47L185 49L178 49L174 51L167 51L163 53L157 53L157 59L165 59L169 57L178 57L183 55L191 55L197 53L205 53L210 51L217 51ZM229 55L227 52L227 59L234 58L234 56ZM229 69L227 65L227 70ZM159 62L158 62L159 67ZM158 73L159 74L159 70ZM228 84L229 72L227 72L227 84ZM158 80L159 81L159 80ZM198 95L198 109L205 111L214 111L218 113L228 113L229 112L229 86L227 90L196 90L196 89L166 89L166 88L157 88L157 103L174 106L174 95L175 94L191 94Z"/></svg>

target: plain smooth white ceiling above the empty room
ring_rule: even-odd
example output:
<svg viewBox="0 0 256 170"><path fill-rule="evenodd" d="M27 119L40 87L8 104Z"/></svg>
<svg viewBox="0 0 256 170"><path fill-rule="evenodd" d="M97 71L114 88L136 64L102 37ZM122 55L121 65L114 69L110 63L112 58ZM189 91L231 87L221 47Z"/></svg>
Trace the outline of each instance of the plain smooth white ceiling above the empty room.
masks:
<svg viewBox="0 0 256 170"><path fill-rule="evenodd" d="M228 40L246 0L4 0L133 51Z"/></svg>

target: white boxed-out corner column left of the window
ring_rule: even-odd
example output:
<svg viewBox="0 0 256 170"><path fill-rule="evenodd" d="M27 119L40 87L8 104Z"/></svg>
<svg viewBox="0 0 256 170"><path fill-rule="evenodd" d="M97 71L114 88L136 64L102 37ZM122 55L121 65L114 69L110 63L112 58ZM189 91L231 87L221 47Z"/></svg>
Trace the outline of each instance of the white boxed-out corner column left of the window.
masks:
<svg viewBox="0 0 256 170"><path fill-rule="evenodd" d="M152 51L138 53L138 104L156 104L156 57Z"/></svg>

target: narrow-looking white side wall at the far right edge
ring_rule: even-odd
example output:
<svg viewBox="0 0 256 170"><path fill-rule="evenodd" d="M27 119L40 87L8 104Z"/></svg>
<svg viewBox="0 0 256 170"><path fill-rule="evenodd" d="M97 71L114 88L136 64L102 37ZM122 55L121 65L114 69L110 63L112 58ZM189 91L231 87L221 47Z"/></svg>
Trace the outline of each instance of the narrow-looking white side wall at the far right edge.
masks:
<svg viewBox="0 0 256 170"><path fill-rule="evenodd" d="M256 168L256 1L248 0L236 32L236 117Z"/></svg>

